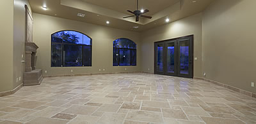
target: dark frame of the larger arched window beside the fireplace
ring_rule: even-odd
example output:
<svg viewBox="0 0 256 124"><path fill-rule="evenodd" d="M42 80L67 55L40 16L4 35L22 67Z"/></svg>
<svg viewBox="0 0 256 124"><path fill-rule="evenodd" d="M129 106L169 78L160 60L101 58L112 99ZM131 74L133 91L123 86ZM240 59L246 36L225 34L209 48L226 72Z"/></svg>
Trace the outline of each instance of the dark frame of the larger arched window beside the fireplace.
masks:
<svg viewBox="0 0 256 124"><path fill-rule="evenodd" d="M74 30L57 31L57 32L54 32L54 33L51 34L51 67L92 67L92 38L90 36L84 34L83 32L74 31L74 32L79 32L79 33L87 36L88 38L90 38L91 39L90 40L90 45L64 43L63 41L62 41L62 43L58 43L58 42L54 43L54 42L52 42L52 35L53 34L56 34L58 32L64 32L64 31L74 31ZM61 66L52 66L52 45L61 45ZM64 63L65 63L65 60L63 60L64 59L64 54L63 54L64 53L64 45L77 45L77 46L81 46L82 47L82 55L81 55L82 56L82 65L81 66L64 66ZM90 66L84 66L84 46L90 46L90 48L91 48L91 53L90 53L91 54L90 55L90 60L91 60L90 63L91 63L91 65Z"/></svg>

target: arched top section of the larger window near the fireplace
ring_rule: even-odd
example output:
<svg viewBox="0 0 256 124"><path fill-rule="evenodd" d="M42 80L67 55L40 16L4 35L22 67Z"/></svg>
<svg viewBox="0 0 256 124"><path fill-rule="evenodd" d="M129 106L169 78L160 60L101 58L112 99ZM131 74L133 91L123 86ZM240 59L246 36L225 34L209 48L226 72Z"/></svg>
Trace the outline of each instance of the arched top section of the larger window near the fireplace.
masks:
<svg viewBox="0 0 256 124"><path fill-rule="evenodd" d="M77 31L59 31L52 34L52 43L92 45L92 38Z"/></svg>

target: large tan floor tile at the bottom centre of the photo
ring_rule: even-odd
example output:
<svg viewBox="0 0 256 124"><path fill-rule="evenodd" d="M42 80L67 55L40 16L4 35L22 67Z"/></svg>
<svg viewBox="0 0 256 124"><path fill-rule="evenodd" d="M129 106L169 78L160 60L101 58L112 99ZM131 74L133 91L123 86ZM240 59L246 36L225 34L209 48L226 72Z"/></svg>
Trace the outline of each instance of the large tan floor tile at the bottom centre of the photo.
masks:
<svg viewBox="0 0 256 124"><path fill-rule="evenodd" d="M163 123L162 114L157 112L151 112L151 111L129 111L126 119L132 120L132 121Z"/></svg>

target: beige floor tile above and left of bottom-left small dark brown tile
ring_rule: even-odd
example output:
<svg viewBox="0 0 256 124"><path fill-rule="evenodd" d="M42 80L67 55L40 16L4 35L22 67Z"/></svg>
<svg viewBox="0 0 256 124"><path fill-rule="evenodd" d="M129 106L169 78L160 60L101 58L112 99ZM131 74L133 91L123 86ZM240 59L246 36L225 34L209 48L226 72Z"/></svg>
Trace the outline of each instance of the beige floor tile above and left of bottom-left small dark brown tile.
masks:
<svg viewBox="0 0 256 124"><path fill-rule="evenodd" d="M33 114L33 116L51 118L51 116L60 113L61 111L63 111L63 109L64 108L61 107L47 107L46 109L43 109L42 111L38 111L37 113Z"/></svg>

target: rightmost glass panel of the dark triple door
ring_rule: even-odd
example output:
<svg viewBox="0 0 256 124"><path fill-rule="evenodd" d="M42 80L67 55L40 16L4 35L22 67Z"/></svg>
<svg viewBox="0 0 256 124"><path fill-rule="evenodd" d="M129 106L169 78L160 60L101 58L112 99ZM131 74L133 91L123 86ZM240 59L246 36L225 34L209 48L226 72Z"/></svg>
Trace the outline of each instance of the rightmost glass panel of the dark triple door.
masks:
<svg viewBox="0 0 256 124"><path fill-rule="evenodd" d="M180 74L189 74L189 41L180 41Z"/></svg>

